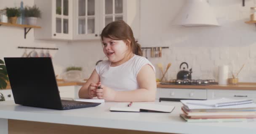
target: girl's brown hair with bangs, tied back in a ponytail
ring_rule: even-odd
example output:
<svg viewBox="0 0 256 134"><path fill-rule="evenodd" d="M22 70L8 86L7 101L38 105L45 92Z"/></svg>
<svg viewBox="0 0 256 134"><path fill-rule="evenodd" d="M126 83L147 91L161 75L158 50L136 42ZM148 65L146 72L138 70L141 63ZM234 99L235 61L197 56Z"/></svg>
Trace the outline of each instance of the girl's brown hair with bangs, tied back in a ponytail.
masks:
<svg viewBox="0 0 256 134"><path fill-rule="evenodd" d="M133 54L142 56L141 45L135 41L131 27L122 20L113 21L107 24L107 26L101 32L102 41L103 37L114 40L123 40L125 42L127 42L128 39L131 41L130 46Z"/></svg>

